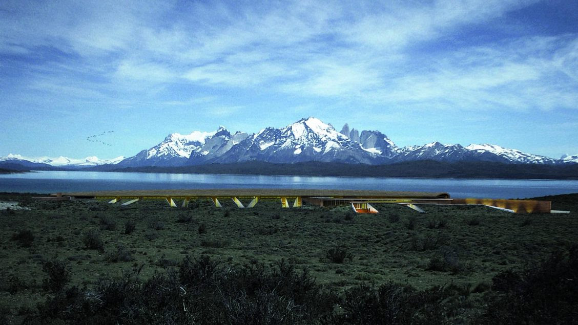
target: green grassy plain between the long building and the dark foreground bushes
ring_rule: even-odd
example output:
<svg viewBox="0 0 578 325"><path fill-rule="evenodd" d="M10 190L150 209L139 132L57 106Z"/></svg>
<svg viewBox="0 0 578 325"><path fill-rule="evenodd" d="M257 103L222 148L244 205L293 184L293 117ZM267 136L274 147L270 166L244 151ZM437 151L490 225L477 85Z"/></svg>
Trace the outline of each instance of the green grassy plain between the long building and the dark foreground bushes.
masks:
<svg viewBox="0 0 578 325"><path fill-rule="evenodd" d="M31 197L0 195L0 201L29 209L0 211L3 322L27 320L55 295L46 281L54 266L48 262L65 266L71 276L66 286L90 289L99 279L130 270L139 269L145 281L179 267L186 256L209 256L229 268L285 259L341 299L355 288L387 283L417 292L454 288L444 296L455 307L444 321L483 323L486 306L503 296L492 278L529 270L554 252L572 249L578 231L578 195L542 198L553 201L553 210L572 211L560 215L476 206L426 206L427 213L418 214L390 204L375 204L379 214L358 215L349 207L283 209L266 200L246 209L232 201L221 202L223 208L191 201L183 209L163 201L123 207ZM356 323L353 316L340 320Z"/></svg>

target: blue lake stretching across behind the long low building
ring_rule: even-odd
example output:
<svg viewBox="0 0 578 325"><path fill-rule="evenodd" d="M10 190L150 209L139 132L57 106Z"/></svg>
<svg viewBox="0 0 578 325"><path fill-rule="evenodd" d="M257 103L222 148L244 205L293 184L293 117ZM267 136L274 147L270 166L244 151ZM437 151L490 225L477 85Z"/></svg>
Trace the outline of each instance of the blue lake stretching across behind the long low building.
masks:
<svg viewBox="0 0 578 325"><path fill-rule="evenodd" d="M516 199L577 193L576 180L316 177L37 171L0 174L0 192L56 193L124 189L299 188L448 192L451 197Z"/></svg>

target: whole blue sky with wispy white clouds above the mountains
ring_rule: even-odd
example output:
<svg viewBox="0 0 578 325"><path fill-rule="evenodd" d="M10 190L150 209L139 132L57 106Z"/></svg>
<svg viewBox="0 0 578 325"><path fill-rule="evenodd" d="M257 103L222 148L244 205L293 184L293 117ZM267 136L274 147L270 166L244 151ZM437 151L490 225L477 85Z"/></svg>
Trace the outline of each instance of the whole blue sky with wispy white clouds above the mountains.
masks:
<svg viewBox="0 0 578 325"><path fill-rule="evenodd" d="M578 154L576 1L5 0L0 25L0 156L309 116L400 146Z"/></svg>

